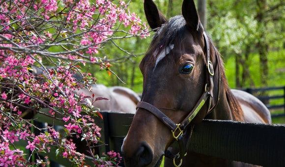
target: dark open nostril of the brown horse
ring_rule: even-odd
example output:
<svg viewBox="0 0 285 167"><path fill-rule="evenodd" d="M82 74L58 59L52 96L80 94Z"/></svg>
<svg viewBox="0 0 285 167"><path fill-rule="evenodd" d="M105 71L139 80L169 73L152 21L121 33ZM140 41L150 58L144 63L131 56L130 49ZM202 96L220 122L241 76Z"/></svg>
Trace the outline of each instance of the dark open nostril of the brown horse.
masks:
<svg viewBox="0 0 285 167"><path fill-rule="evenodd" d="M153 159L153 152L147 143L142 143L136 154L139 167L147 166Z"/></svg>

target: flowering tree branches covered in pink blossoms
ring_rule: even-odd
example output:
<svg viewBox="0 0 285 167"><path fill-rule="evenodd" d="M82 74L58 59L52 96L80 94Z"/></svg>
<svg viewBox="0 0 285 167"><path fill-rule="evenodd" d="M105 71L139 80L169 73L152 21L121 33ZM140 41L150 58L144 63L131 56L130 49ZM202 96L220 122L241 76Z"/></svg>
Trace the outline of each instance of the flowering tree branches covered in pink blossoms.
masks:
<svg viewBox="0 0 285 167"><path fill-rule="evenodd" d="M83 166L85 155L76 151L72 136L88 143L94 166L116 166L119 154L109 152L104 159L93 154L89 143L101 137L92 118L98 116L97 108L74 92L96 81L81 70L85 63L111 74L110 63L135 56L115 41L136 36L149 36L148 27L122 0L1 0L0 166L45 166L48 157L38 154L50 147L57 149L57 156ZM128 56L114 60L100 56L106 43ZM77 74L80 77L75 78ZM37 127L30 121L36 120L35 114L64 122L65 133L59 134L53 123L46 132L34 134L30 127ZM17 148L19 140L28 141L28 159ZM32 156L36 162L31 162Z"/></svg>

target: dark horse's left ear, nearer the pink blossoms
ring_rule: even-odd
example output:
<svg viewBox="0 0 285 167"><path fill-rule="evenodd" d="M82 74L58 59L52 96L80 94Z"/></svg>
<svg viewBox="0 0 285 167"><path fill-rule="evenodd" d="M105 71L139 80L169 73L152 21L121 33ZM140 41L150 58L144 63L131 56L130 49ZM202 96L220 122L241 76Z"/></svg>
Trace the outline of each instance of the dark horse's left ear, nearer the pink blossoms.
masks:
<svg viewBox="0 0 285 167"><path fill-rule="evenodd" d="M161 27L162 24L167 22L167 19L158 10L157 6L152 0L144 0L143 8L146 20L152 29Z"/></svg>

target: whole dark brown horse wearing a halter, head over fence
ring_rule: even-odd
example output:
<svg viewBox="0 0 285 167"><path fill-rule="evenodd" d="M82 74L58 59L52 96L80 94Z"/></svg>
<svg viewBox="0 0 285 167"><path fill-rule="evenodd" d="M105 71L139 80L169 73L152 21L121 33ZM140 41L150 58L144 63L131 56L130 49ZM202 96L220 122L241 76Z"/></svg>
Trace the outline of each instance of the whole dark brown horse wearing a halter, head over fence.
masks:
<svg viewBox="0 0 285 167"><path fill-rule="evenodd" d="M254 167L187 153L192 130L202 119L271 123L261 101L229 88L221 55L194 1L184 0L182 15L169 20L152 0L144 0L144 12L156 33L139 65L142 99L121 147L125 166L159 167L165 155L165 167ZM173 142L178 150L170 148Z"/></svg>

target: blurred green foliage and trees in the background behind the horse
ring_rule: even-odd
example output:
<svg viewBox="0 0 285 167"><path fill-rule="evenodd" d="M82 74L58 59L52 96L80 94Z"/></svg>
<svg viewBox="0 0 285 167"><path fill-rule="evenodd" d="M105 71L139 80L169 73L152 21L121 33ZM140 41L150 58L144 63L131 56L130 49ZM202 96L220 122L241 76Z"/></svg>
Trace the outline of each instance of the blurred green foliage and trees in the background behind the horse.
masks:
<svg viewBox="0 0 285 167"><path fill-rule="evenodd" d="M154 0L160 11L166 16L168 13L169 0ZM282 69L284 65L282 62L282 51L285 46L285 13L281 12L285 9L285 3L282 0L267 0L265 15L265 24L260 24L256 15L258 12L258 6L256 1L252 0L223 0L223 3L218 0L208 0L207 5L207 29L209 35L212 36L215 46L221 52L223 59L226 63L227 76L229 85L232 88L236 87L235 84L235 57L238 56L241 59L240 75L242 77L243 66L242 63L246 62L249 67L250 77L254 80L256 87L262 87L260 82L260 60L256 44L258 41L269 44L269 78L268 86L284 85L283 80L284 73ZM172 0L172 16L181 14L181 1ZM196 1L196 4L197 1ZM143 4L141 0L132 0L129 3L131 11L136 11L140 16L142 22L146 22ZM153 33L153 32L151 32ZM262 39L260 36L264 35ZM139 37L138 37L139 38ZM150 44L151 37L147 39L124 39L114 41L115 44L120 46L123 50L137 55L136 57L127 55L125 51L118 51L115 49L114 43L105 44L105 52L102 52L102 56L106 56L108 59L114 57L120 57L122 59L117 60L111 69L117 74L117 76L126 83L124 85L117 79L117 77L106 72L106 70L98 70L90 65L86 65L85 69L88 72L92 72L98 79L97 83L102 83L107 86L121 85L133 89L135 92L142 92L142 74L139 70L139 63ZM249 48L249 49L247 49ZM279 51L278 51L279 50ZM245 54L249 54L248 60L245 60ZM276 72L275 72L276 71ZM240 79L244 81L244 87L252 86L249 79Z"/></svg>

